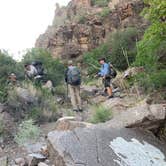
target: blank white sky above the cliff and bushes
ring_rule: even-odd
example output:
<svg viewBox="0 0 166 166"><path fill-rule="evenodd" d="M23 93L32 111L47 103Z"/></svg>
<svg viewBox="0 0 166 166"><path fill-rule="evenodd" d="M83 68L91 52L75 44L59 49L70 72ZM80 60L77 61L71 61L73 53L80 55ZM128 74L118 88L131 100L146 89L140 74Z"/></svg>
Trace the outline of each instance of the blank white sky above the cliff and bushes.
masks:
<svg viewBox="0 0 166 166"><path fill-rule="evenodd" d="M52 24L55 4L70 0L0 0L0 49L15 59L34 47L38 36Z"/></svg>

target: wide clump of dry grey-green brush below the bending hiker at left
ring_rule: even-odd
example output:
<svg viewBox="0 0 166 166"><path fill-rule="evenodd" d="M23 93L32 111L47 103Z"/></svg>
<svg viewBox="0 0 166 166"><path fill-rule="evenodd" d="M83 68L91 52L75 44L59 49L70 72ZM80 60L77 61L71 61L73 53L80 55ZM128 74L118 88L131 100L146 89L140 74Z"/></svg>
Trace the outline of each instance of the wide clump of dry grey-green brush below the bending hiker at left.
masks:
<svg viewBox="0 0 166 166"><path fill-rule="evenodd" d="M36 88L32 83L21 86L22 89L15 87L8 92L7 105L13 117L17 120L28 117L39 123L56 121L60 117L55 97L50 91Z"/></svg>

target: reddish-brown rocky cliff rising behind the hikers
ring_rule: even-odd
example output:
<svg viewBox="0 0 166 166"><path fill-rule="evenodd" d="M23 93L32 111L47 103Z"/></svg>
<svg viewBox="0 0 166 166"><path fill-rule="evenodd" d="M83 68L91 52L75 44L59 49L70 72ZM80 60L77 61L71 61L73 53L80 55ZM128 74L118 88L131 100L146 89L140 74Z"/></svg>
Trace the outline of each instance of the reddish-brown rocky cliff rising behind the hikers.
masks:
<svg viewBox="0 0 166 166"><path fill-rule="evenodd" d="M52 26L39 36L35 47L49 50L55 58L77 58L117 29L144 29L143 7L142 0L112 0L107 7L94 6L91 0L72 0L66 7L57 4Z"/></svg>

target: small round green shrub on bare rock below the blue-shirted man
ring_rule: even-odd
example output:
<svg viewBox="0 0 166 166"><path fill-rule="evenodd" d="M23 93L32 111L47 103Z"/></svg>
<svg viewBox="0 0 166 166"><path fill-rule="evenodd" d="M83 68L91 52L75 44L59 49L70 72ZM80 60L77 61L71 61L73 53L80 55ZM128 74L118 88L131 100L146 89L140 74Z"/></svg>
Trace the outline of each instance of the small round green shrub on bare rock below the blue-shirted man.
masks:
<svg viewBox="0 0 166 166"><path fill-rule="evenodd" d="M110 109L104 107L104 106L96 106L93 108L94 113L91 117L91 123L101 123L106 122L111 119L112 113Z"/></svg>

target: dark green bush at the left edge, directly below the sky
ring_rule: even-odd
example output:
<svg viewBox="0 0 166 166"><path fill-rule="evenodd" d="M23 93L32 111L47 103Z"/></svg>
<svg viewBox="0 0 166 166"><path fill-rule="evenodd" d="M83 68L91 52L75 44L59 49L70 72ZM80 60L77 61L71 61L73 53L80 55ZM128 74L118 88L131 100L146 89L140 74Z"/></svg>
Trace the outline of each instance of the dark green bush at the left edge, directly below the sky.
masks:
<svg viewBox="0 0 166 166"><path fill-rule="evenodd" d="M0 102L4 102L7 97L8 77L15 73L17 78L22 80L24 73L23 67L16 62L7 52L0 52Z"/></svg>

